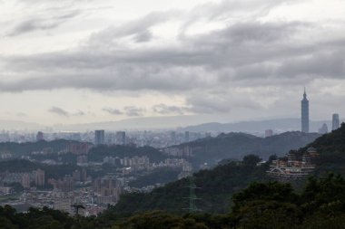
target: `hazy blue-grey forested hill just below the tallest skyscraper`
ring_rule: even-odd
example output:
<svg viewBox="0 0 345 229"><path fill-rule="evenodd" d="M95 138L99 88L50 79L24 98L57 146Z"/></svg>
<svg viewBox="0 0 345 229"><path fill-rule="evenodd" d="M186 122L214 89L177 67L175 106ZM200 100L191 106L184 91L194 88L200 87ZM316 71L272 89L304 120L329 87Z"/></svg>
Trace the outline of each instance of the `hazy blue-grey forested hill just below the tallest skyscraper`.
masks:
<svg viewBox="0 0 345 229"><path fill-rule="evenodd" d="M221 134L216 138L202 138L185 143L177 148L192 148L196 163L214 164L224 158L240 159L248 154L256 154L267 159L273 154L283 156L291 149L299 149L320 137L317 133L285 132L269 138L259 138L244 133Z"/></svg>

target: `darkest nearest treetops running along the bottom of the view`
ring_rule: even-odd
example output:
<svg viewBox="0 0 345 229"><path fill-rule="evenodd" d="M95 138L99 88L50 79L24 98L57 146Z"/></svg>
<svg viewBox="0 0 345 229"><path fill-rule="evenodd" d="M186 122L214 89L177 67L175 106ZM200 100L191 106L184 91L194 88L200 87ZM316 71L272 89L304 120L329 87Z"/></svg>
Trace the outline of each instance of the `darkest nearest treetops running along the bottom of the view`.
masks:
<svg viewBox="0 0 345 229"><path fill-rule="evenodd" d="M105 212L99 217L70 216L30 208L25 214L0 206L0 228L8 229L340 229L345 225L345 180L330 174L311 178L301 194L289 184L252 183L233 196L224 215L150 211L133 215ZM222 200L220 200L222 201Z"/></svg>

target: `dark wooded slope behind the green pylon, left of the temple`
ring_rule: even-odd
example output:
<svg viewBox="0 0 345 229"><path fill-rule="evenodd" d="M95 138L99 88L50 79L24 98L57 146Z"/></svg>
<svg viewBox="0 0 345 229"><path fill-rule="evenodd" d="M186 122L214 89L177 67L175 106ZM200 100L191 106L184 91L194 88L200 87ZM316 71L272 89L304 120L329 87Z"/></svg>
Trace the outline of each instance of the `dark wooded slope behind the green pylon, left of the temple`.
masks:
<svg viewBox="0 0 345 229"><path fill-rule="evenodd" d="M212 170L201 170L194 174L193 179L198 207L203 212L228 212L232 194L248 186L252 181L267 179L265 171L268 164L257 167L259 157L247 156L242 163L232 162L215 167ZM150 194L127 194L121 197L120 202L113 207L118 214L132 214L148 210L166 210L181 213L188 207L189 179L184 178L166 186L155 188Z"/></svg>

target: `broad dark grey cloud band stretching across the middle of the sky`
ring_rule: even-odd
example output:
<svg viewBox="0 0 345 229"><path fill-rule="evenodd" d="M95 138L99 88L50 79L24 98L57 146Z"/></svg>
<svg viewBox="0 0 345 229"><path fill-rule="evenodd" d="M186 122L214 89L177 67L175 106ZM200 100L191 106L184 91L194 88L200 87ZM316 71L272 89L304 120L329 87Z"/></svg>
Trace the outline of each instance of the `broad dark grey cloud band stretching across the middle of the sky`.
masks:
<svg viewBox="0 0 345 229"><path fill-rule="evenodd" d="M25 74L27 79L0 81L0 88L2 91L60 88L187 91L255 79L259 84L272 84L277 82L274 79L281 78L296 83L292 73L294 78L309 74L310 81L340 78L343 69L339 61L333 62L332 68L325 64L339 56L344 46L338 40L332 45L294 44L293 35L306 26L313 29L313 25L304 23L251 22L191 38L177 48L121 52L94 49L8 57L4 60L5 67ZM303 60L308 64L298 67L296 64ZM292 68L291 64L295 66ZM326 68L318 72L321 66Z"/></svg>

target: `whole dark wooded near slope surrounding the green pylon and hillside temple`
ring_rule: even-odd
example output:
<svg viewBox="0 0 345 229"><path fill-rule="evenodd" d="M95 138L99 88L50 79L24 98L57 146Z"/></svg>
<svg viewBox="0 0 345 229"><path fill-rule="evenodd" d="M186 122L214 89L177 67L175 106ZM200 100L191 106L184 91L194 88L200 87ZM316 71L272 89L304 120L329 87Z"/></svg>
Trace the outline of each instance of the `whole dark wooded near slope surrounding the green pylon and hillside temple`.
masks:
<svg viewBox="0 0 345 229"><path fill-rule="evenodd" d="M316 139L305 148L320 152L319 172L345 167L345 125ZM345 225L345 180L329 173L309 178L301 190L288 183L268 181L269 164L256 166L257 156L244 157L202 170L193 176L197 206L188 214L184 196L189 195L188 179L156 188L149 194L130 194L98 217L70 216L46 207L16 213L0 206L0 228L17 229L343 229ZM322 161L325 160L325 161ZM339 161L336 161L339 160ZM31 165L28 164L27 167ZM262 182L263 181L263 182ZM156 211L152 211L156 210ZM165 211L157 211L165 210ZM222 215L217 214L222 213Z"/></svg>

